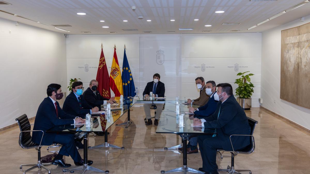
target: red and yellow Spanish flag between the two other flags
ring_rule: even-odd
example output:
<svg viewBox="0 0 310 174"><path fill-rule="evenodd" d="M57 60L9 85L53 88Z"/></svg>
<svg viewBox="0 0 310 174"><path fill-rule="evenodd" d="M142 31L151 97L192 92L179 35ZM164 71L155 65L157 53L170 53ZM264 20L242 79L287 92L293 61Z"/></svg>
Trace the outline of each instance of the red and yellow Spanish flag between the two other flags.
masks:
<svg viewBox="0 0 310 174"><path fill-rule="evenodd" d="M122 82L122 75L119 68L117 55L116 55L116 47L114 45L114 55L113 55L113 61L111 66L111 72L110 72L110 88L115 94L115 97L120 97L123 95L123 82Z"/></svg>

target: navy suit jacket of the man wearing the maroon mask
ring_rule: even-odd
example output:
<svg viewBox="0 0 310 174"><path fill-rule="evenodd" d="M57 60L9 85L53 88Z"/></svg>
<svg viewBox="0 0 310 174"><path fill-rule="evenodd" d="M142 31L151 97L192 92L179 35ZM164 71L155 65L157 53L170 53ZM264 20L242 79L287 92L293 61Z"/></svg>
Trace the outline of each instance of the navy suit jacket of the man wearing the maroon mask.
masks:
<svg viewBox="0 0 310 174"><path fill-rule="evenodd" d="M51 145L55 139L55 133L45 133L46 130L51 129L55 126L60 126L64 124L73 124L75 116L69 115L64 112L59 103L57 103L58 117L56 115L55 104L52 102L51 98L47 97L41 102L36 119L34 120L33 130L42 130L44 132L42 138L42 145ZM32 141L40 144L42 137L42 132L35 131L32 133Z"/></svg>

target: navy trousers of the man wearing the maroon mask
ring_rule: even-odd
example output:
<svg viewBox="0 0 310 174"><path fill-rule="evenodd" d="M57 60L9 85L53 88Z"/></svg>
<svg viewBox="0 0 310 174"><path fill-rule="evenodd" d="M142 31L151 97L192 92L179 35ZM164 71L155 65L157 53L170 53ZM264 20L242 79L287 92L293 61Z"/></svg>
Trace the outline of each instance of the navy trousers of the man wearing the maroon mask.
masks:
<svg viewBox="0 0 310 174"><path fill-rule="evenodd" d="M78 149L75 146L75 140L73 135L69 134L58 134L56 135L53 143L62 144L59 150L59 154L65 156L71 156L74 162L81 161L81 155L78 153Z"/></svg>

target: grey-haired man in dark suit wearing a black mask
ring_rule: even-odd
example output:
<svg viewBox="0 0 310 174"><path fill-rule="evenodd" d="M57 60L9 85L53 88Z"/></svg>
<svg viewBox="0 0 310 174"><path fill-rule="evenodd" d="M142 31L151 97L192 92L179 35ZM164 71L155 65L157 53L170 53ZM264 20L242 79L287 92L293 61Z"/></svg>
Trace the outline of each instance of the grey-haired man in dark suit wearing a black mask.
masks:
<svg viewBox="0 0 310 174"><path fill-rule="evenodd" d="M99 110L101 110L101 105L107 103L113 104L114 102L116 102L115 100L102 97L99 91L97 91L97 88L98 81L95 79L91 80L91 82L89 83L89 88L87 88L83 93L87 104L89 104L91 107L98 107Z"/></svg>

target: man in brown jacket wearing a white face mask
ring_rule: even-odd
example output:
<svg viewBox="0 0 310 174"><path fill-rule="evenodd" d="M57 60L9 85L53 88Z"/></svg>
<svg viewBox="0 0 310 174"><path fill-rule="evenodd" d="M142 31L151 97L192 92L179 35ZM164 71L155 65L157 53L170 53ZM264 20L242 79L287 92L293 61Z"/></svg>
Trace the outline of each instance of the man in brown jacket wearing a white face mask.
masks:
<svg viewBox="0 0 310 174"><path fill-rule="evenodd" d="M206 94L205 79L203 77L197 77L195 81L197 88L200 89L199 98L196 98L194 100L187 99L187 103L192 105L204 106L205 104L207 104L210 98L209 95Z"/></svg>

